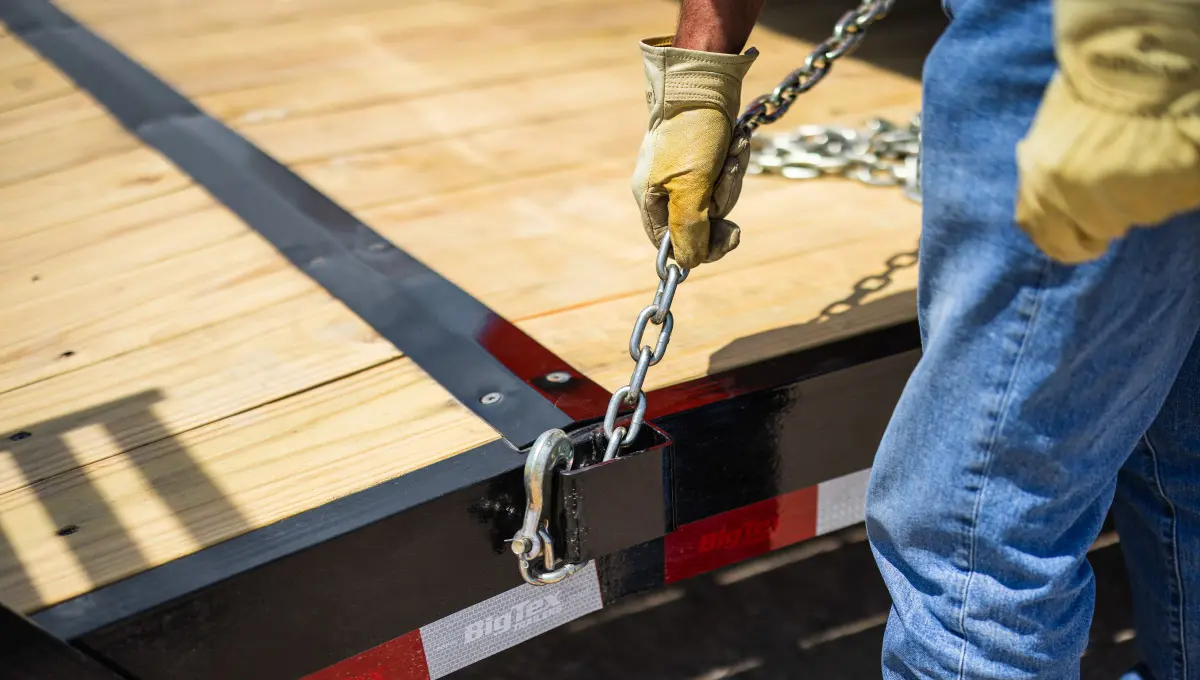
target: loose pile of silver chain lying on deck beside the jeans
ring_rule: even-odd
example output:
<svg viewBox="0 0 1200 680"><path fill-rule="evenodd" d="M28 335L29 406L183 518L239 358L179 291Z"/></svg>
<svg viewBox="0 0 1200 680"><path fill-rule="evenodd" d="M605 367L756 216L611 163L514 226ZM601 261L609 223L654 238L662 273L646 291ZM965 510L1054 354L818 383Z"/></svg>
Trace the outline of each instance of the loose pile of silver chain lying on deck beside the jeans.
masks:
<svg viewBox="0 0 1200 680"><path fill-rule="evenodd" d="M920 115L899 126L875 118L865 127L802 125L792 132L755 134L746 174L793 180L842 176L871 186L904 187L920 203Z"/></svg>

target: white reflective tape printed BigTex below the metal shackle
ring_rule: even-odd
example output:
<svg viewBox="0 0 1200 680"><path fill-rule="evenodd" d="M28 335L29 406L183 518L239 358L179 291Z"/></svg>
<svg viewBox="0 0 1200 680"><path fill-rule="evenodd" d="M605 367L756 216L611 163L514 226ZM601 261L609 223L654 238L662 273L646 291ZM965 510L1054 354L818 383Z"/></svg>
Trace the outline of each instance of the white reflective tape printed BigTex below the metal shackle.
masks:
<svg viewBox="0 0 1200 680"><path fill-rule="evenodd" d="M551 585L522 584L421 627L437 680L604 607L595 562Z"/></svg>

